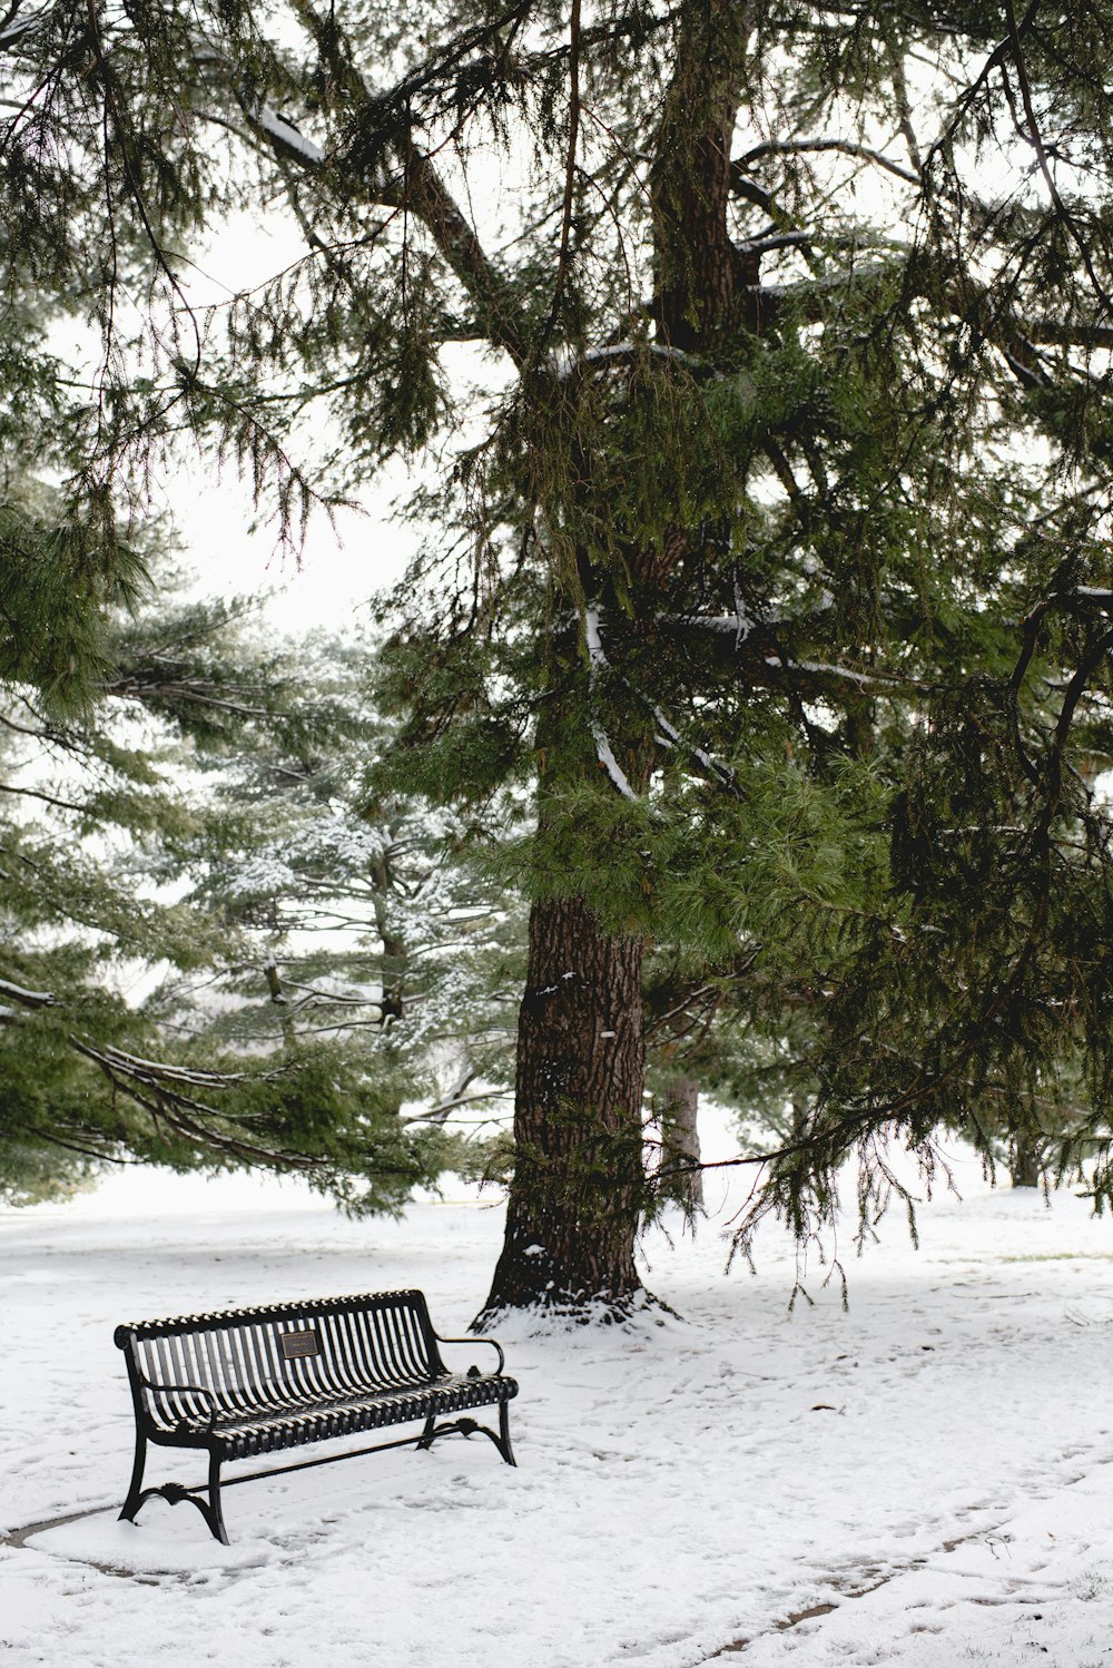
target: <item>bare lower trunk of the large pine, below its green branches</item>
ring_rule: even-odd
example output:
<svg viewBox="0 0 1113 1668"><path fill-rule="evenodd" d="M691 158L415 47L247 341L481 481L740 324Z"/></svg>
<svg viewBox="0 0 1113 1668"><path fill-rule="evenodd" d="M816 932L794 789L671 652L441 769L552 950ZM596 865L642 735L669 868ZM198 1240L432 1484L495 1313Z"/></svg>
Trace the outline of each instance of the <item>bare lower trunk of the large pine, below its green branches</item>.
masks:
<svg viewBox="0 0 1113 1668"><path fill-rule="evenodd" d="M578 897L533 906L518 1019L507 1238L477 1324L537 1306L593 1318L641 1294L641 944Z"/></svg>

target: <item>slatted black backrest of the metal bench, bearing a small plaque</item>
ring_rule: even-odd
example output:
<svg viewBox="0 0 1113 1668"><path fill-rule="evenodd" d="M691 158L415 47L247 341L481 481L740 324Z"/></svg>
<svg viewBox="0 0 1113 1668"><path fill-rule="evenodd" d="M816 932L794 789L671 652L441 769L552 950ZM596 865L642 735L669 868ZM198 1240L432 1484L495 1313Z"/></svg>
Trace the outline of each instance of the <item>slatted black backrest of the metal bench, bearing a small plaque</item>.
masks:
<svg viewBox="0 0 1113 1668"><path fill-rule="evenodd" d="M247 1418L367 1391L428 1384L445 1373L420 1291L180 1314L115 1329L137 1413L162 1429Z"/></svg>

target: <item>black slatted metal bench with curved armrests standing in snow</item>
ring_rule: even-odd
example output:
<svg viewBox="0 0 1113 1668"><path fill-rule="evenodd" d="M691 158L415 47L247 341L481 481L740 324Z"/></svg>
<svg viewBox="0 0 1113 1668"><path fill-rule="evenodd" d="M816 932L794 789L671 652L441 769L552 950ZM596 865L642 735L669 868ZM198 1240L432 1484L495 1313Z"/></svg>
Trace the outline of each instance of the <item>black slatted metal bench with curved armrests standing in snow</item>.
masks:
<svg viewBox="0 0 1113 1668"><path fill-rule="evenodd" d="M420 1436L270 1466L223 1480L302 1471L385 1448L432 1448L438 1436L482 1431L507 1465L515 1465L507 1404L518 1394L503 1376L503 1351L493 1338L438 1338L420 1291L378 1291L358 1298L277 1303L263 1309L180 1314L167 1321L117 1326L135 1403L135 1468L120 1518L135 1521L145 1500L190 1500L218 1541L228 1545L220 1501L227 1460L300 1448L423 1419ZM470 1366L450 1373L438 1344L490 1344L493 1373ZM473 1418L438 1423L443 1414L498 1408L498 1431ZM147 1444L208 1453L208 1486L163 1483L143 1488Z"/></svg>

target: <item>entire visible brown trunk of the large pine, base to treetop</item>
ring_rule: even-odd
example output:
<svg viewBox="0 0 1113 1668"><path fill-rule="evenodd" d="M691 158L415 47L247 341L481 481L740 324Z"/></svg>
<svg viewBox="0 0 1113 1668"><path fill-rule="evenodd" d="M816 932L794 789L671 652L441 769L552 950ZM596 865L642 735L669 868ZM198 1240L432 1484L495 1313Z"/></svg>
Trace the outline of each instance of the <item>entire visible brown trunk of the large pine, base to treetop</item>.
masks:
<svg viewBox="0 0 1113 1668"><path fill-rule="evenodd" d="M675 347L700 350L736 330L756 277L728 230L730 140L748 32L750 7L733 0L700 0L683 13L651 182L656 329ZM638 455L630 459L631 469L640 465ZM586 485L590 477L590 457L576 459L575 479ZM688 532L678 527L665 539L670 560L683 554ZM605 592L611 575L593 572L590 550L580 567L583 595ZM658 605L660 579L655 549L641 560L631 552L635 615L641 584L650 610ZM547 816L568 814L560 807L561 777L568 782L581 771L583 781L598 781L605 766L601 752L585 752L591 702L578 717L563 711L576 679L583 686L580 646L568 651L553 641L550 652L552 692L560 696L538 722L538 756L548 759L542 827ZM598 676L591 659L588 677ZM630 702L621 734L608 736L623 756L626 786L638 794L650 781L653 736L638 702ZM555 797L547 802L550 789ZM533 906L507 1239L477 1324L528 1306L583 1319L600 1311L621 1316L641 1294L633 1263L645 1194L641 952L640 941L605 932L580 897Z"/></svg>

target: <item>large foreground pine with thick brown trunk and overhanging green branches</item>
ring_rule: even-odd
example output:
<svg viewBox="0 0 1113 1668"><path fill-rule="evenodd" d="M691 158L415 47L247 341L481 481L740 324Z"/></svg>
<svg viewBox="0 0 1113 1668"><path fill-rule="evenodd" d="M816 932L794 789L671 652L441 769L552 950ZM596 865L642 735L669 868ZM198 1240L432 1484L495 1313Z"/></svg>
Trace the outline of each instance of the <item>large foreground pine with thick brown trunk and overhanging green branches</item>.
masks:
<svg viewBox="0 0 1113 1668"><path fill-rule="evenodd" d="M477 829L533 802L490 1309L640 1301L646 1029L783 1061L743 1244L768 1209L816 1231L853 1153L866 1224L886 1143L930 1176L940 1128L990 1151L1066 1114L1060 1163L1113 1189L1110 23L202 0L3 27L12 307L82 297L112 389L72 425L75 505L142 502L192 427L297 532L448 442L378 789ZM190 312L190 234L245 202L305 257ZM457 342L492 355L460 435Z"/></svg>

